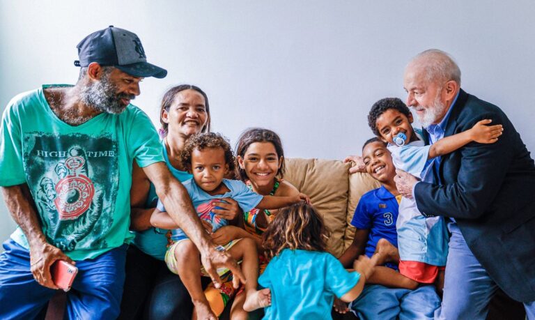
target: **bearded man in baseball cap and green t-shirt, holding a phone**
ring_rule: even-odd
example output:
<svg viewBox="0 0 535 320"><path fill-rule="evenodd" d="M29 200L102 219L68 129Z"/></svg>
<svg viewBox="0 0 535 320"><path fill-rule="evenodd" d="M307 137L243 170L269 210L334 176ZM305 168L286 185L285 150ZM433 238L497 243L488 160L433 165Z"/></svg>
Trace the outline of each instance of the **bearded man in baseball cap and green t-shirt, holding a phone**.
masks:
<svg viewBox="0 0 535 320"><path fill-rule="evenodd" d="M50 268L75 264L69 319L115 319L132 238L132 163L199 247L215 282L216 266L242 273L215 249L187 192L167 169L153 124L138 107L144 77L167 71L147 62L132 32L109 26L79 45L74 86L43 85L13 98L0 128L0 186L18 224L0 254L0 319L33 319L58 289ZM72 293L72 294L71 294Z"/></svg>

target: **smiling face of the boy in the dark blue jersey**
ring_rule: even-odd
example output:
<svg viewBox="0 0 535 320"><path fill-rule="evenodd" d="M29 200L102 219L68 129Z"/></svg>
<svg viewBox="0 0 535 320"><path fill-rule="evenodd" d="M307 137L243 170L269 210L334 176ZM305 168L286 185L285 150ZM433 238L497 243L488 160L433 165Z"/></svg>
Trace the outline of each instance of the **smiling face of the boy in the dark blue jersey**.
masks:
<svg viewBox="0 0 535 320"><path fill-rule="evenodd" d="M362 149L362 158L368 172L380 183L391 183L396 176L390 151L382 142L371 142Z"/></svg>

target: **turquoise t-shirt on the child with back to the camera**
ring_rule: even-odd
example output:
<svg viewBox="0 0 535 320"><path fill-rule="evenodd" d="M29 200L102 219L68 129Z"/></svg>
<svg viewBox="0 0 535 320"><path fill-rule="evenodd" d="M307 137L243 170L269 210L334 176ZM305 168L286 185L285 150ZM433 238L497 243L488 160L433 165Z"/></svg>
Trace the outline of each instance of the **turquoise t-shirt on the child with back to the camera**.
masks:
<svg viewBox="0 0 535 320"><path fill-rule="evenodd" d="M258 278L271 290L264 319L332 319L334 296L347 294L359 278L328 252L284 249Z"/></svg>

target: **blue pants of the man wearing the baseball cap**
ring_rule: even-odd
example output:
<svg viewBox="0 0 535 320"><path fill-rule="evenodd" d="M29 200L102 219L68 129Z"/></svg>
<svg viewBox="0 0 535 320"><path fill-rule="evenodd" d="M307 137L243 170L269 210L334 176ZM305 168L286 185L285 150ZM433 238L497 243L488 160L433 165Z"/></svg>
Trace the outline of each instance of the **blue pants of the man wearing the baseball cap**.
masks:
<svg viewBox="0 0 535 320"><path fill-rule="evenodd" d="M116 319L119 314L127 245L95 259L76 261L78 275L67 295L65 319ZM33 319L56 290L42 287L30 271L30 254L15 241L0 254L0 319Z"/></svg>

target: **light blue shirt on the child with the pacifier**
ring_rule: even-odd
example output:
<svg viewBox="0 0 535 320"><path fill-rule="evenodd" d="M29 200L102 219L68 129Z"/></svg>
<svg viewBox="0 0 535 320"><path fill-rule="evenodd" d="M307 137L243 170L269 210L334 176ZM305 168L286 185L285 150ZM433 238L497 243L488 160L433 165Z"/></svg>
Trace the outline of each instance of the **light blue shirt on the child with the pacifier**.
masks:
<svg viewBox="0 0 535 320"><path fill-rule="evenodd" d="M389 145L392 162L424 182L433 181L433 159L428 160L429 148L420 139L404 146ZM445 266L448 255L448 233L444 218L426 218L418 211L416 201L403 197L396 222L399 257L403 261L419 261L433 266Z"/></svg>

